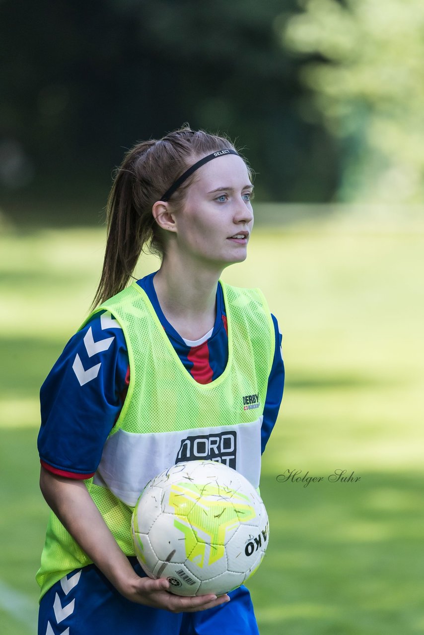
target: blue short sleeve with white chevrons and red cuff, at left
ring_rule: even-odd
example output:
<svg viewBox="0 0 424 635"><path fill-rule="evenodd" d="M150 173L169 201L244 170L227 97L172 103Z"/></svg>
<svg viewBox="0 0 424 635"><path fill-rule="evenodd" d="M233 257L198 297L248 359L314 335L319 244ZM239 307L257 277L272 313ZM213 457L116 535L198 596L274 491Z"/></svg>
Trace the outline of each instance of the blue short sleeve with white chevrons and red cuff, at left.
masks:
<svg viewBox="0 0 424 635"><path fill-rule="evenodd" d="M40 391L41 464L68 478L93 476L128 388L123 331L96 313L65 346Z"/></svg>

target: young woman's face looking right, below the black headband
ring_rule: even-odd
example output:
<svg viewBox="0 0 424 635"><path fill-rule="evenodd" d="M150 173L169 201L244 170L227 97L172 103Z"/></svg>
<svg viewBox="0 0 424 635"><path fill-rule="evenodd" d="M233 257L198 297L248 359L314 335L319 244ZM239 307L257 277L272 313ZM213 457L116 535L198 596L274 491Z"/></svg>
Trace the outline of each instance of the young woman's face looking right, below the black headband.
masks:
<svg viewBox="0 0 424 635"><path fill-rule="evenodd" d="M253 226L252 190L246 164L235 154L199 168L175 214L177 248L199 265L226 267L245 260Z"/></svg>

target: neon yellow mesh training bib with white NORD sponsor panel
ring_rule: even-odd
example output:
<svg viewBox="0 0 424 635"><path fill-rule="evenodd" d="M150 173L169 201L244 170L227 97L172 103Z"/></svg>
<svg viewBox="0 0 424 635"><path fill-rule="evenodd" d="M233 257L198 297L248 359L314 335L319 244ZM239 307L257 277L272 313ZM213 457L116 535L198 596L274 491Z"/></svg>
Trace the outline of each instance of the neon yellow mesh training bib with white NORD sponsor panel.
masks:
<svg viewBox="0 0 424 635"><path fill-rule="evenodd" d="M198 384L184 368L139 284L133 283L97 309L109 311L123 329L130 385L97 472L86 486L128 556L134 554L133 506L146 483L163 469L183 460L209 458L234 467L259 486L261 423L274 328L261 291L221 285L228 363L210 384ZM41 594L90 562L51 513L37 574Z"/></svg>

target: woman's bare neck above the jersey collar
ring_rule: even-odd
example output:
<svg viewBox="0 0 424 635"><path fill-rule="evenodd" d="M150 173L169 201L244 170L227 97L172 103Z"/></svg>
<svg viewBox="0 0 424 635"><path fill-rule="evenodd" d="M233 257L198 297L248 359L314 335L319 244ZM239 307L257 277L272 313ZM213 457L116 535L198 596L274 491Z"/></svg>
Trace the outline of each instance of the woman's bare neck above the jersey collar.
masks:
<svg viewBox="0 0 424 635"><path fill-rule="evenodd" d="M222 269L202 269L167 255L154 289L168 322L181 337L198 340L215 323L216 290Z"/></svg>

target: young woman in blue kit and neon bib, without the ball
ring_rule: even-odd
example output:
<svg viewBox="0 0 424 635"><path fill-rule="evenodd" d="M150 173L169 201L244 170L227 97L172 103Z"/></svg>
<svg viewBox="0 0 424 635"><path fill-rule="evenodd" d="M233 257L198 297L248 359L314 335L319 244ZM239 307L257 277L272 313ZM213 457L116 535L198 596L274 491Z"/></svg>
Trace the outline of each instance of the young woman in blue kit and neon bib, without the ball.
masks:
<svg viewBox="0 0 424 635"><path fill-rule="evenodd" d="M144 575L130 537L140 491L177 462L219 460L259 485L282 399L281 336L259 290L219 281L246 258L252 191L233 145L189 128L136 145L118 170L101 304L41 388L52 512L39 635L257 633L244 586L171 594ZM127 286L146 247L160 269Z"/></svg>

